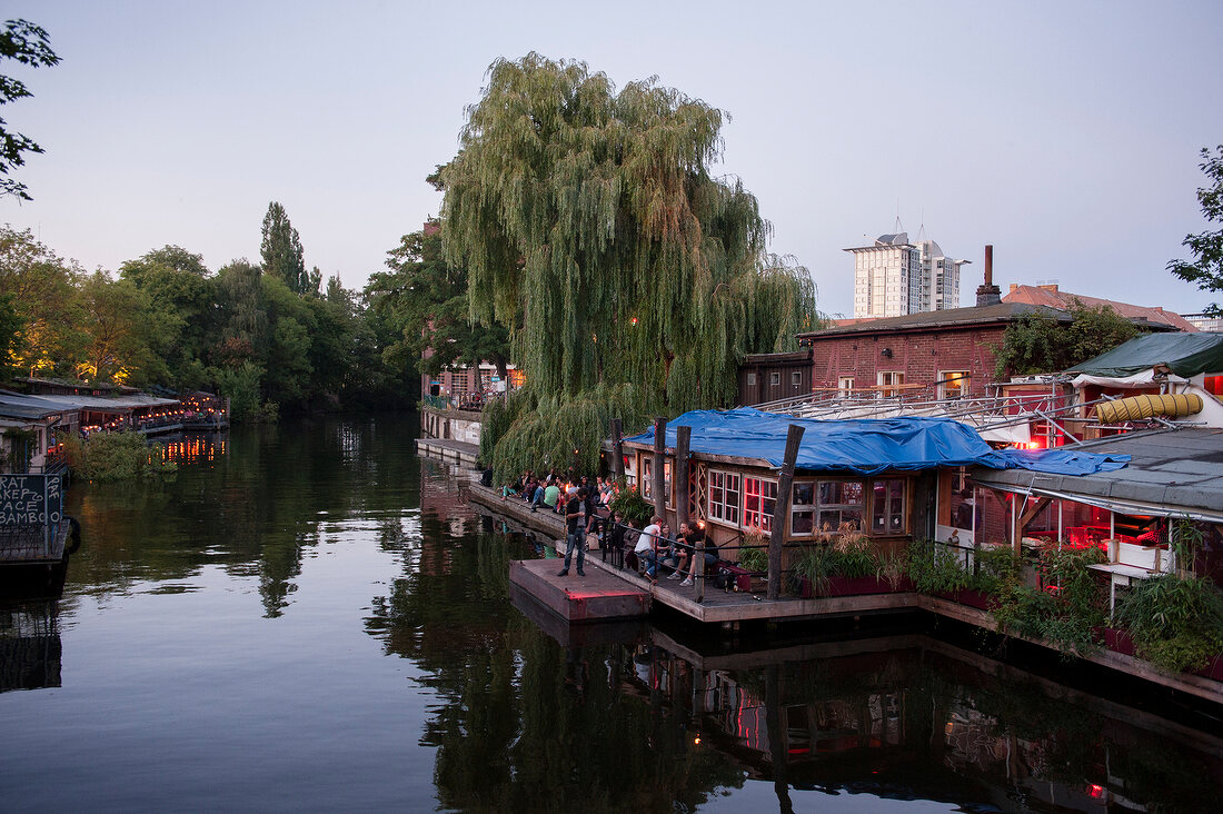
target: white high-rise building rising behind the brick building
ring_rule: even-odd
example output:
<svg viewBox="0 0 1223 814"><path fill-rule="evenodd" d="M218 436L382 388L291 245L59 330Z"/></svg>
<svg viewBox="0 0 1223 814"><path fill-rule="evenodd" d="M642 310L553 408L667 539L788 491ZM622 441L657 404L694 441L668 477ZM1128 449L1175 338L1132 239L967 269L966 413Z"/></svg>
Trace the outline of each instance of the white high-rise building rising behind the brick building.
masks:
<svg viewBox="0 0 1223 814"><path fill-rule="evenodd" d="M960 306L960 266L933 240L881 235L854 255L854 318L901 317Z"/></svg>

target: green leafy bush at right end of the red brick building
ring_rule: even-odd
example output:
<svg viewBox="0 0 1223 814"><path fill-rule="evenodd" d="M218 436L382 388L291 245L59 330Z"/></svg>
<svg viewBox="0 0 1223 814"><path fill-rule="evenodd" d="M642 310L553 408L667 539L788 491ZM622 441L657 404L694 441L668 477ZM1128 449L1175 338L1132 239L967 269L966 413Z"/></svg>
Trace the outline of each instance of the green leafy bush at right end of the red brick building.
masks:
<svg viewBox="0 0 1223 814"><path fill-rule="evenodd" d="M1002 345L994 349L994 375L1002 378L1068 370L1142 333L1107 305L1088 307L1075 300L1069 315L1068 323L1033 311L1007 326Z"/></svg>

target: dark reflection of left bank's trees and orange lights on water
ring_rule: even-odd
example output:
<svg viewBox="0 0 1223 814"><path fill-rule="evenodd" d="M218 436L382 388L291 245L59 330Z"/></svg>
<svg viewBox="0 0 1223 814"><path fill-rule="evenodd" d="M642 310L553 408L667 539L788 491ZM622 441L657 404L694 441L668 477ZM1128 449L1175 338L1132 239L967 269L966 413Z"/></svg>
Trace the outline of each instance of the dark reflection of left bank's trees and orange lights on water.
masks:
<svg viewBox="0 0 1223 814"><path fill-rule="evenodd" d="M191 435L166 447L183 464L168 482L77 484L67 510L86 556L72 561L72 579L98 596L164 592L191 590L220 566L257 577L264 613L279 617L330 521L375 523L391 547L421 532L410 420Z"/></svg>

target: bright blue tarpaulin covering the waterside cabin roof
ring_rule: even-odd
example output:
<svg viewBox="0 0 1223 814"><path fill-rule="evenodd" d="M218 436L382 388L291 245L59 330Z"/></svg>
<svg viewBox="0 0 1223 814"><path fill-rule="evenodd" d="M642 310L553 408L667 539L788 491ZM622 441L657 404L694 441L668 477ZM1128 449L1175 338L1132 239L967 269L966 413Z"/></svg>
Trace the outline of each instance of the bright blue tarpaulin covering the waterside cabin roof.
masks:
<svg viewBox="0 0 1223 814"><path fill-rule="evenodd" d="M752 408L695 410L668 422L668 447L675 427L692 427L690 449L709 455L756 458L780 469L789 426L804 427L797 471L845 471L877 475L937 466L1030 469L1057 475L1091 475L1120 469L1129 455L1097 455L1066 449L994 450L977 432L950 419L857 419L818 421L762 413ZM649 428L627 441L652 444Z"/></svg>

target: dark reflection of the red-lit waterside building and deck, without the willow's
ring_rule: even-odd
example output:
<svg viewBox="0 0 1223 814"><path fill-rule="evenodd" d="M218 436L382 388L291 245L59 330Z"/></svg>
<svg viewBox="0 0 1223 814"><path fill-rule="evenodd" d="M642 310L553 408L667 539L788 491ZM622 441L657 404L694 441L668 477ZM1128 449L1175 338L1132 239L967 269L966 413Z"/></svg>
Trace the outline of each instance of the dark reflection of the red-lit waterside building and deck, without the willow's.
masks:
<svg viewBox="0 0 1223 814"><path fill-rule="evenodd" d="M1102 699L1066 700L1064 688L927 635L706 659L656 629L613 657L703 743L752 777L800 790L1003 809L1207 810L1223 777L1213 734Z"/></svg>

